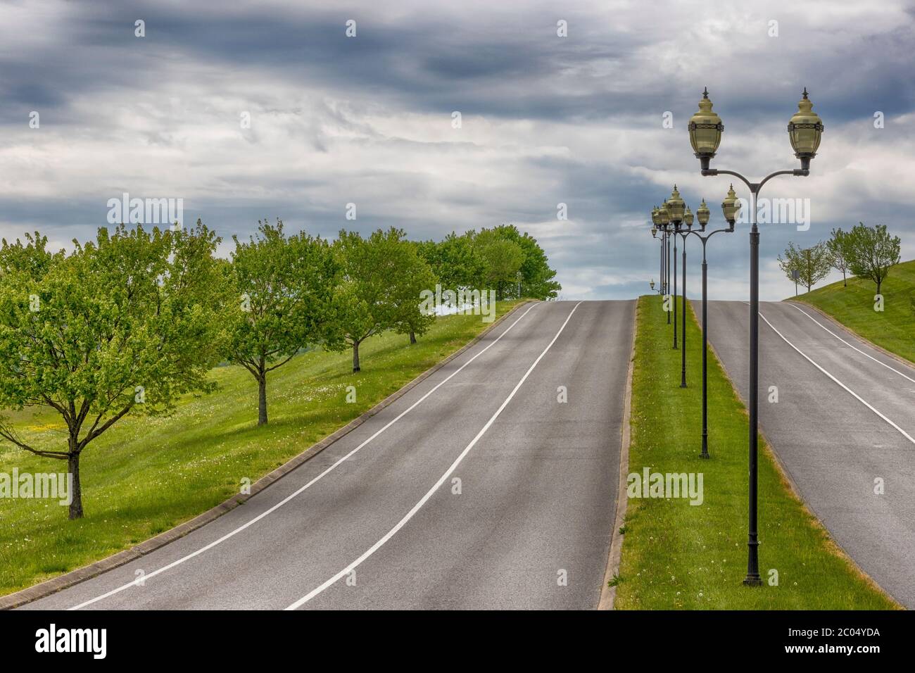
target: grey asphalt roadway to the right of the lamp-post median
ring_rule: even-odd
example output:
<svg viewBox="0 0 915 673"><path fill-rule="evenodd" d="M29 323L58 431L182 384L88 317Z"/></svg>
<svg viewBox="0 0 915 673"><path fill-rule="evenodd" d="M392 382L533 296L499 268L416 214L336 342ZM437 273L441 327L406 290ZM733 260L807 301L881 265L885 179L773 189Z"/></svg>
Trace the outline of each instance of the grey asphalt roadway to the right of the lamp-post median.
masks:
<svg viewBox="0 0 915 673"><path fill-rule="evenodd" d="M915 367L802 304L760 302L759 313L760 428L834 540L915 608ZM748 319L746 302L709 302L709 340L745 401Z"/></svg>

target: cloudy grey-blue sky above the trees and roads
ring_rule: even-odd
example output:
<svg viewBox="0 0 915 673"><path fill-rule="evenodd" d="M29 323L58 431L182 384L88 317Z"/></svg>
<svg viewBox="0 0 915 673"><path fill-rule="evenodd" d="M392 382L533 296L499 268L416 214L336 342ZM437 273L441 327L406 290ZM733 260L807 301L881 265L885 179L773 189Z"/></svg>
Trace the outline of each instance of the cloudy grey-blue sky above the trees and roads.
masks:
<svg viewBox="0 0 915 673"><path fill-rule="evenodd" d="M674 182L721 223L728 179L699 174L686 131L703 87L725 124L713 166L759 178L797 166L806 86L812 175L763 192L810 200L808 231L763 228L762 297L781 299L776 255L837 226L885 223L915 257L913 18L893 0L0 1L0 234L66 246L124 192L183 199L230 244L264 217L436 239L515 223L563 299L629 298L657 279L649 214ZM697 279L695 239L689 255ZM713 298L746 298L747 269L746 225L712 239Z"/></svg>

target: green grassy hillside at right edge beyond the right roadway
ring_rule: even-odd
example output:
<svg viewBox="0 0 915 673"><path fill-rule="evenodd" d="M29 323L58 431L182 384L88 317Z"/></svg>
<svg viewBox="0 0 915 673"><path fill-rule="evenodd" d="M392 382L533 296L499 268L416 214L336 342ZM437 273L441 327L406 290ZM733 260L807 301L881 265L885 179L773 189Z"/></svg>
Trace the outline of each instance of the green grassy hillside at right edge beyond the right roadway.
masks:
<svg viewBox="0 0 915 673"><path fill-rule="evenodd" d="M849 278L847 288L840 280L797 299L828 313L869 342L915 363L915 260L890 268L880 293L882 312L874 310L877 285L862 278Z"/></svg>

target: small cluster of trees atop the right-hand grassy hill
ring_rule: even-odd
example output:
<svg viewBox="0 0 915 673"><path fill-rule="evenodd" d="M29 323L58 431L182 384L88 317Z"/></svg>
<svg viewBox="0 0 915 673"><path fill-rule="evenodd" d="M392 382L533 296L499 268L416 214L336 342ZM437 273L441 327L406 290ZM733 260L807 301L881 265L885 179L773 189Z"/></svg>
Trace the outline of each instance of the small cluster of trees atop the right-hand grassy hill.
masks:
<svg viewBox="0 0 915 673"><path fill-rule="evenodd" d="M779 255L779 267L785 276L807 288L813 288L833 269L842 272L844 287L848 274L866 278L880 287L889 275L889 269L899 264L901 241L887 231L885 224L869 227L857 223L851 230L834 229L826 242L802 248L789 243Z"/></svg>

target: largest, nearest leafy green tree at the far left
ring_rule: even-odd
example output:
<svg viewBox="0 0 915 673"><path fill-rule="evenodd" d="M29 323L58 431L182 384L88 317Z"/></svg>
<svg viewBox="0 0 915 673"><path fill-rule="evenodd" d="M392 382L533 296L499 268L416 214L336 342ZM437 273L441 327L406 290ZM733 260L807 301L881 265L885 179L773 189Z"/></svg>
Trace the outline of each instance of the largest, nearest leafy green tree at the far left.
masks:
<svg viewBox="0 0 915 673"><path fill-rule="evenodd" d="M0 247L0 408L46 407L66 446L27 443L0 419L0 438L67 461L70 519L83 516L81 454L130 413L167 415L178 396L209 392L219 360L224 283L212 256L220 239L191 230L124 224L70 255L48 239ZM33 445L34 444L34 445Z"/></svg>

